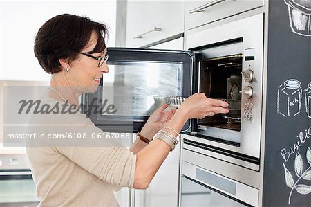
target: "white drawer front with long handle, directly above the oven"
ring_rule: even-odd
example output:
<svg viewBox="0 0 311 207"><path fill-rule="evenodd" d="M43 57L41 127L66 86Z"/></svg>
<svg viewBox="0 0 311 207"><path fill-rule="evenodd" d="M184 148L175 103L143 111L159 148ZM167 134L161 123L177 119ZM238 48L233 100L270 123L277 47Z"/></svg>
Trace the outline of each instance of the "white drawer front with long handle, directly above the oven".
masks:
<svg viewBox="0 0 311 207"><path fill-rule="evenodd" d="M265 5L265 0L213 0L185 2L186 30Z"/></svg>

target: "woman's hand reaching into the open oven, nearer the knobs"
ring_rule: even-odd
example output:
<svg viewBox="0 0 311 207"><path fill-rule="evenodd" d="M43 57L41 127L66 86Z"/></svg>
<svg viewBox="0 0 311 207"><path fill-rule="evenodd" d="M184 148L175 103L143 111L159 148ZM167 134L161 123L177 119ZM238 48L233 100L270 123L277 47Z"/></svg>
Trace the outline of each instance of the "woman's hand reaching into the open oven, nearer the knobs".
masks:
<svg viewBox="0 0 311 207"><path fill-rule="evenodd" d="M218 99L211 99L205 93L195 93L187 98L178 111L182 111L187 118L205 118L215 114L227 114L229 112L228 103Z"/></svg>

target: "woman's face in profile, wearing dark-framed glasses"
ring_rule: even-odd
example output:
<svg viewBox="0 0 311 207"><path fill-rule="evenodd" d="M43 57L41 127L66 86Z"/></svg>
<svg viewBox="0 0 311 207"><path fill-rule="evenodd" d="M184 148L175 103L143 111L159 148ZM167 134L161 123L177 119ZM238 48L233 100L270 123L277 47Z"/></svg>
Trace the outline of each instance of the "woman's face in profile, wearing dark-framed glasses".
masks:
<svg viewBox="0 0 311 207"><path fill-rule="evenodd" d="M81 51L81 53L87 53L88 51L92 51L97 44L97 35L92 33L91 39L88 42L87 46ZM107 49L100 53L93 53L95 57L102 57L106 55ZM108 73L109 69L104 62L102 66L98 66L98 60L88 57L86 55L80 54L78 59L73 62L72 70L73 82L79 88L79 92L88 92L93 93L97 90L98 85L100 84L100 78L102 78L104 73Z"/></svg>

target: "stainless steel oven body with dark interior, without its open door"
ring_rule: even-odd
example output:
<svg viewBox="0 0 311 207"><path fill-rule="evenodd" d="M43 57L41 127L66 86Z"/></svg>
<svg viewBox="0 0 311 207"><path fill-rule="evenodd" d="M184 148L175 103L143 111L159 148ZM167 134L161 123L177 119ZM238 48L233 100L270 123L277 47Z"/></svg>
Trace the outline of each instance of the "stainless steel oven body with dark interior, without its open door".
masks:
<svg viewBox="0 0 311 207"><path fill-rule="evenodd" d="M184 149L259 170L263 90L263 14L187 34L200 53L198 91L229 103L229 114L197 120Z"/></svg>

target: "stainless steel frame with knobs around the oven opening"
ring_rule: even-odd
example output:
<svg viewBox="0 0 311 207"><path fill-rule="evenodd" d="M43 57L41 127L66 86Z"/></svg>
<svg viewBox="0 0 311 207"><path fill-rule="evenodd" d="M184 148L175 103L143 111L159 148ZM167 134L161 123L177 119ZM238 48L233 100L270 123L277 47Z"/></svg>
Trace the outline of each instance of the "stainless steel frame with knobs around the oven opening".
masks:
<svg viewBox="0 0 311 207"><path fill-rule="evenodd" d="M242 71L251 69L254 79L252 82L242 80L242 89L252 87L252 97L249 98L246 91L241 91L241 131L234 132L228 129L220 129L216 127L200 127L198 132L185 135L185 149L217 157L235 163L237 165L259 170L259 158L261 150L261 123L262 123L262 95L263 95L263 14L245 17L236 21L211 27L210 25L201 26L200 28L187 31L185 45L189 50L198 51L202 54L203 59L211 57L220 57L225 55L233 55L243 53ZM224 44L220 48L205 48L216 43L230 42L233 39L242 39L242 42L236 44ZM249 55L249 50L254 55L254 60L245 60L245 56ZM200 82L198 83L200 86ZM200 89L199 89L200 90ZM252 111L251 111L252 110ZM252 119L246 120L247 117ZM238 145L232 145L227 142L213 140L212 138L225 139L233 137L240 140ZM196 144L192 145L187 142L192 141ZM213 150L206 150L206 145L212 147ZM225 153L214 153L215 150ZM232 152L232 153L231 153Z"/></svg>

